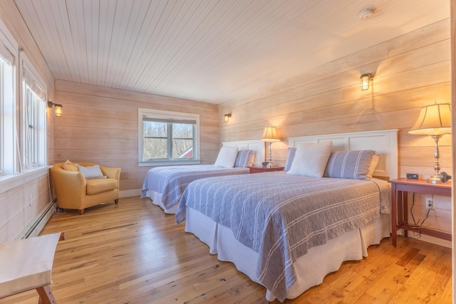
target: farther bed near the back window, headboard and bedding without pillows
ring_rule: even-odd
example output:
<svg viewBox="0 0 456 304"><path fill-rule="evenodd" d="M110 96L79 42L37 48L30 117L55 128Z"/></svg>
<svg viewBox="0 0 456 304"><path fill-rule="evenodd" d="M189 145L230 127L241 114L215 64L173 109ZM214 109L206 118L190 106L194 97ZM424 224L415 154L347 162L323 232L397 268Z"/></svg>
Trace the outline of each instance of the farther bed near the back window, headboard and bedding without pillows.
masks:
<svg viewBox="0 0 456 304"><path fill-rule="evenodd" d="M254 165L261 166L264 162L264 142L261 140L242 140L236 142L222 142L223 147L237 147L239 151L253 150L255 152ZM153 185L153 174L157 174L160 170L161 178L166 179L160 187ZM247 167L233 167L222 168L214 167L210 164L197 164L185 166L168 166L168 167L155 167L147 172L145 181L142 185L141 198L149 197L152 199L152 204L160 206L166 214L175 214L177 204L179 203L180 196L185 190L188 182L204 177L216 177L228 174L249 174ZM172 189L170 187L170 183ZM157 191L160 188L160 191ZM165 189L168 189L167 194L163 194ZM167 191L168 191L167 190Z"/></svg>

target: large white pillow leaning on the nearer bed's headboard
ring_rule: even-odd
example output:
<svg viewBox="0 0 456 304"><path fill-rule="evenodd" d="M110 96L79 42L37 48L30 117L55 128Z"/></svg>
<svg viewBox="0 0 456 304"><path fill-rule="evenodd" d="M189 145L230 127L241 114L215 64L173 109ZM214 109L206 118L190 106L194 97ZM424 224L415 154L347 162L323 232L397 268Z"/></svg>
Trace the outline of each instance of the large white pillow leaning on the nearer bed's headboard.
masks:
<svg viewBox="0 0 456 304"><path fill-rule="evenodd" d="M318 144L299 144L291 168L286 173L304 177L323 177L332 147L331 140Z"/></svg>

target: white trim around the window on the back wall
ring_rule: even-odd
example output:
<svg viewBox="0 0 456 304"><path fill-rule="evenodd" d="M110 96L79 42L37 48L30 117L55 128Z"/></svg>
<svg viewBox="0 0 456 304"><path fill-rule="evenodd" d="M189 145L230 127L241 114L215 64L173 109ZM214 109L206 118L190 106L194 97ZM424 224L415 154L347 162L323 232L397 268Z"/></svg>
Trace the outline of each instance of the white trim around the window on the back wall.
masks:
<svg viewBox="0 0 456 304"><path fill-rule="evenodd" d="M193 155L195 159L176 159L176 160L156 160L153 162L142 162L142 135L144 130L142 130L142 117L143 116L152 116L162 119L192 119L197 122L197 130L195 132L195 147L193 147ZM163 166L170 164L201 164L201 159L199 159L199 114L191 114L184 112L172 112L172 111L163 111L163 110L154 110L147 108L138 108L138 166L147 167L147 166Z"/></svg>

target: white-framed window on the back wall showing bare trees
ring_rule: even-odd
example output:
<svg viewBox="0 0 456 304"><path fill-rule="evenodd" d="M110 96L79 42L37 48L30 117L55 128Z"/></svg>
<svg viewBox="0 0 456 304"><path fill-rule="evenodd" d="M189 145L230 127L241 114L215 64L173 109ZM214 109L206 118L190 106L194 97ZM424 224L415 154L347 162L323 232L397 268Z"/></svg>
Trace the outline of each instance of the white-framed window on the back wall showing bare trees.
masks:
<svg viewBox="0 0 456 304"><path fill-rule="evenodd" d="M140 108L139 163L199 164L199 115Z"/></svg>

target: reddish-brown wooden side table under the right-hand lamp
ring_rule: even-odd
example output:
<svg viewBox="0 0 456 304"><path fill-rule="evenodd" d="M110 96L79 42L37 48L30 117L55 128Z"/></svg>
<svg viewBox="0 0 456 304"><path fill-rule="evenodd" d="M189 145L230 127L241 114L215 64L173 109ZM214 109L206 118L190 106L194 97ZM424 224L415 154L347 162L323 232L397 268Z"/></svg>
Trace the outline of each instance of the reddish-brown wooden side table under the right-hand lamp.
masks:
<svg viewBox="0 0 456 304"><path fill-rule="evenodd" d="M434 236L439 239L451 241L451 234L435 231L428 228L416 229L408 224L408 192L423 194L435 194L441 196L451 196L451 183L432 184L425 179L393 179L391 183L391 239L393 246L396 246L398 239L398 229L404 229L404 234L414 231L427 236Z"/></svg>

